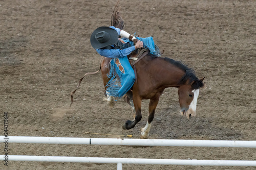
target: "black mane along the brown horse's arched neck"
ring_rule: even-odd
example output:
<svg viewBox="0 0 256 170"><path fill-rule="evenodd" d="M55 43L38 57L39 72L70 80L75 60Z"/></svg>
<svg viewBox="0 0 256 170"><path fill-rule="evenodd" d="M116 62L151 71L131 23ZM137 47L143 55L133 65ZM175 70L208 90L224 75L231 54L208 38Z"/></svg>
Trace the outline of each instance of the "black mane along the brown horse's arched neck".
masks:
<svg viewBox="0 0 256 170"><path fill-rule="evenodd" d="M195 75L195 70L193 68L189 68L188 65L185 65L182 61L176 61L174 59L170 58L164 58L165 61L177 66L181 70L185 71L184 76L180 79L179 84L185 84L187 80L189 80L189 83L195 81L191 87L193 89L199 89L204 86L204 83L197 78Z"/></svg>

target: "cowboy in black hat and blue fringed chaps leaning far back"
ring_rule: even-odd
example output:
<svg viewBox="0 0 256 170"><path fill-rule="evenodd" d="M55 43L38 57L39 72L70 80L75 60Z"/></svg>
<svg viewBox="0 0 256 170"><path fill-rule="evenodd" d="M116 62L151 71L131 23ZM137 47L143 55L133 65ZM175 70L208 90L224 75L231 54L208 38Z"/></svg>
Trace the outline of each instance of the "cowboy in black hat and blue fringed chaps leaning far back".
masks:
<svg viewBox="0 0 256 170"><path fill-rule="evenodd" d="M125 43L118 38L119 35L128 41ZM97 28L91 35L91 45L99 55L112 58L107 93L121 98L131 89L135 81L134 70L130 65L127 55L137 48L143 47L143 42L131 34L111 26ZM120 78L119 85L116 83L115 74Z"/></svg>

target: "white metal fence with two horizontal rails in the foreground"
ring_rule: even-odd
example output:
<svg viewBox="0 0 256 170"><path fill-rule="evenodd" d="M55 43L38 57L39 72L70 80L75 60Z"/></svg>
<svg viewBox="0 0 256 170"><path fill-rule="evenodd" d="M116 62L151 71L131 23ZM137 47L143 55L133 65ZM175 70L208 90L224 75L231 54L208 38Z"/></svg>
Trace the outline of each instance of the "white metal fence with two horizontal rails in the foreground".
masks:
<svg viewBox="0 0 256 170"><path fill-rule="evenodd" d="M116 139L116 138L74 138L74 137L30 137L4 136L0 142L9 143L50 143L50 144L99 144L99 145L140 145L169 147L235 147L256 148L256 141L238 140L178 140L178 139ZM5 160L1 155L0 160ZM8 155L12 161L49 161L49 162L85 162L122 164L165 164L165 165L210 165L210 166L256 166L252 160L182 160L182 159L140 159L140 158L96 158L96 157L63 157L63 156L25 156Z"/></svg>

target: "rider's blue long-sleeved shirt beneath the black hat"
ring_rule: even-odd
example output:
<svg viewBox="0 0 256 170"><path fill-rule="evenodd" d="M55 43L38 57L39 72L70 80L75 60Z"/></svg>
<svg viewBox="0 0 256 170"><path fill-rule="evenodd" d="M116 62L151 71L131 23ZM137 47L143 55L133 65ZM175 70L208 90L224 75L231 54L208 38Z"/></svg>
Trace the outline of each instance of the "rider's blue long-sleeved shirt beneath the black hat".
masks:
<svg viewBox="0 0 256 170"><path fill-rule="evenodd" d="M110 28L116 30L118 35L120 35L121 30L119 28L115 28L113 26L111 26ZM99 53L99 55L104 56L104 57L118 58L118 57L127 56L135 50L136 50L135 46L133 45L131 47L124 48L123 50L119 50L119 49L116 49L116 50L115 49L111 49L111 50L97 49L96 51Z"/></svg>

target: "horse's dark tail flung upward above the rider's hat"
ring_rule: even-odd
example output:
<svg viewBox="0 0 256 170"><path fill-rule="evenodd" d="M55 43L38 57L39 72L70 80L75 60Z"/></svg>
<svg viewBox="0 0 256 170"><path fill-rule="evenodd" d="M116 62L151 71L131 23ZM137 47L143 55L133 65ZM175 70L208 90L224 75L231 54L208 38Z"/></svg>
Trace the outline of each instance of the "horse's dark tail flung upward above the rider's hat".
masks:
<svg viewBox="0 0 256 170"><path fill-rule="evenodd" d="M123 19L119 13L119 9L120 9L119 3L120 3L120 0L117 1L115 8L113 10L113 13L111 16L111 26L114 26L122 30L124 27L124 24L123 24Z"/></svg>

